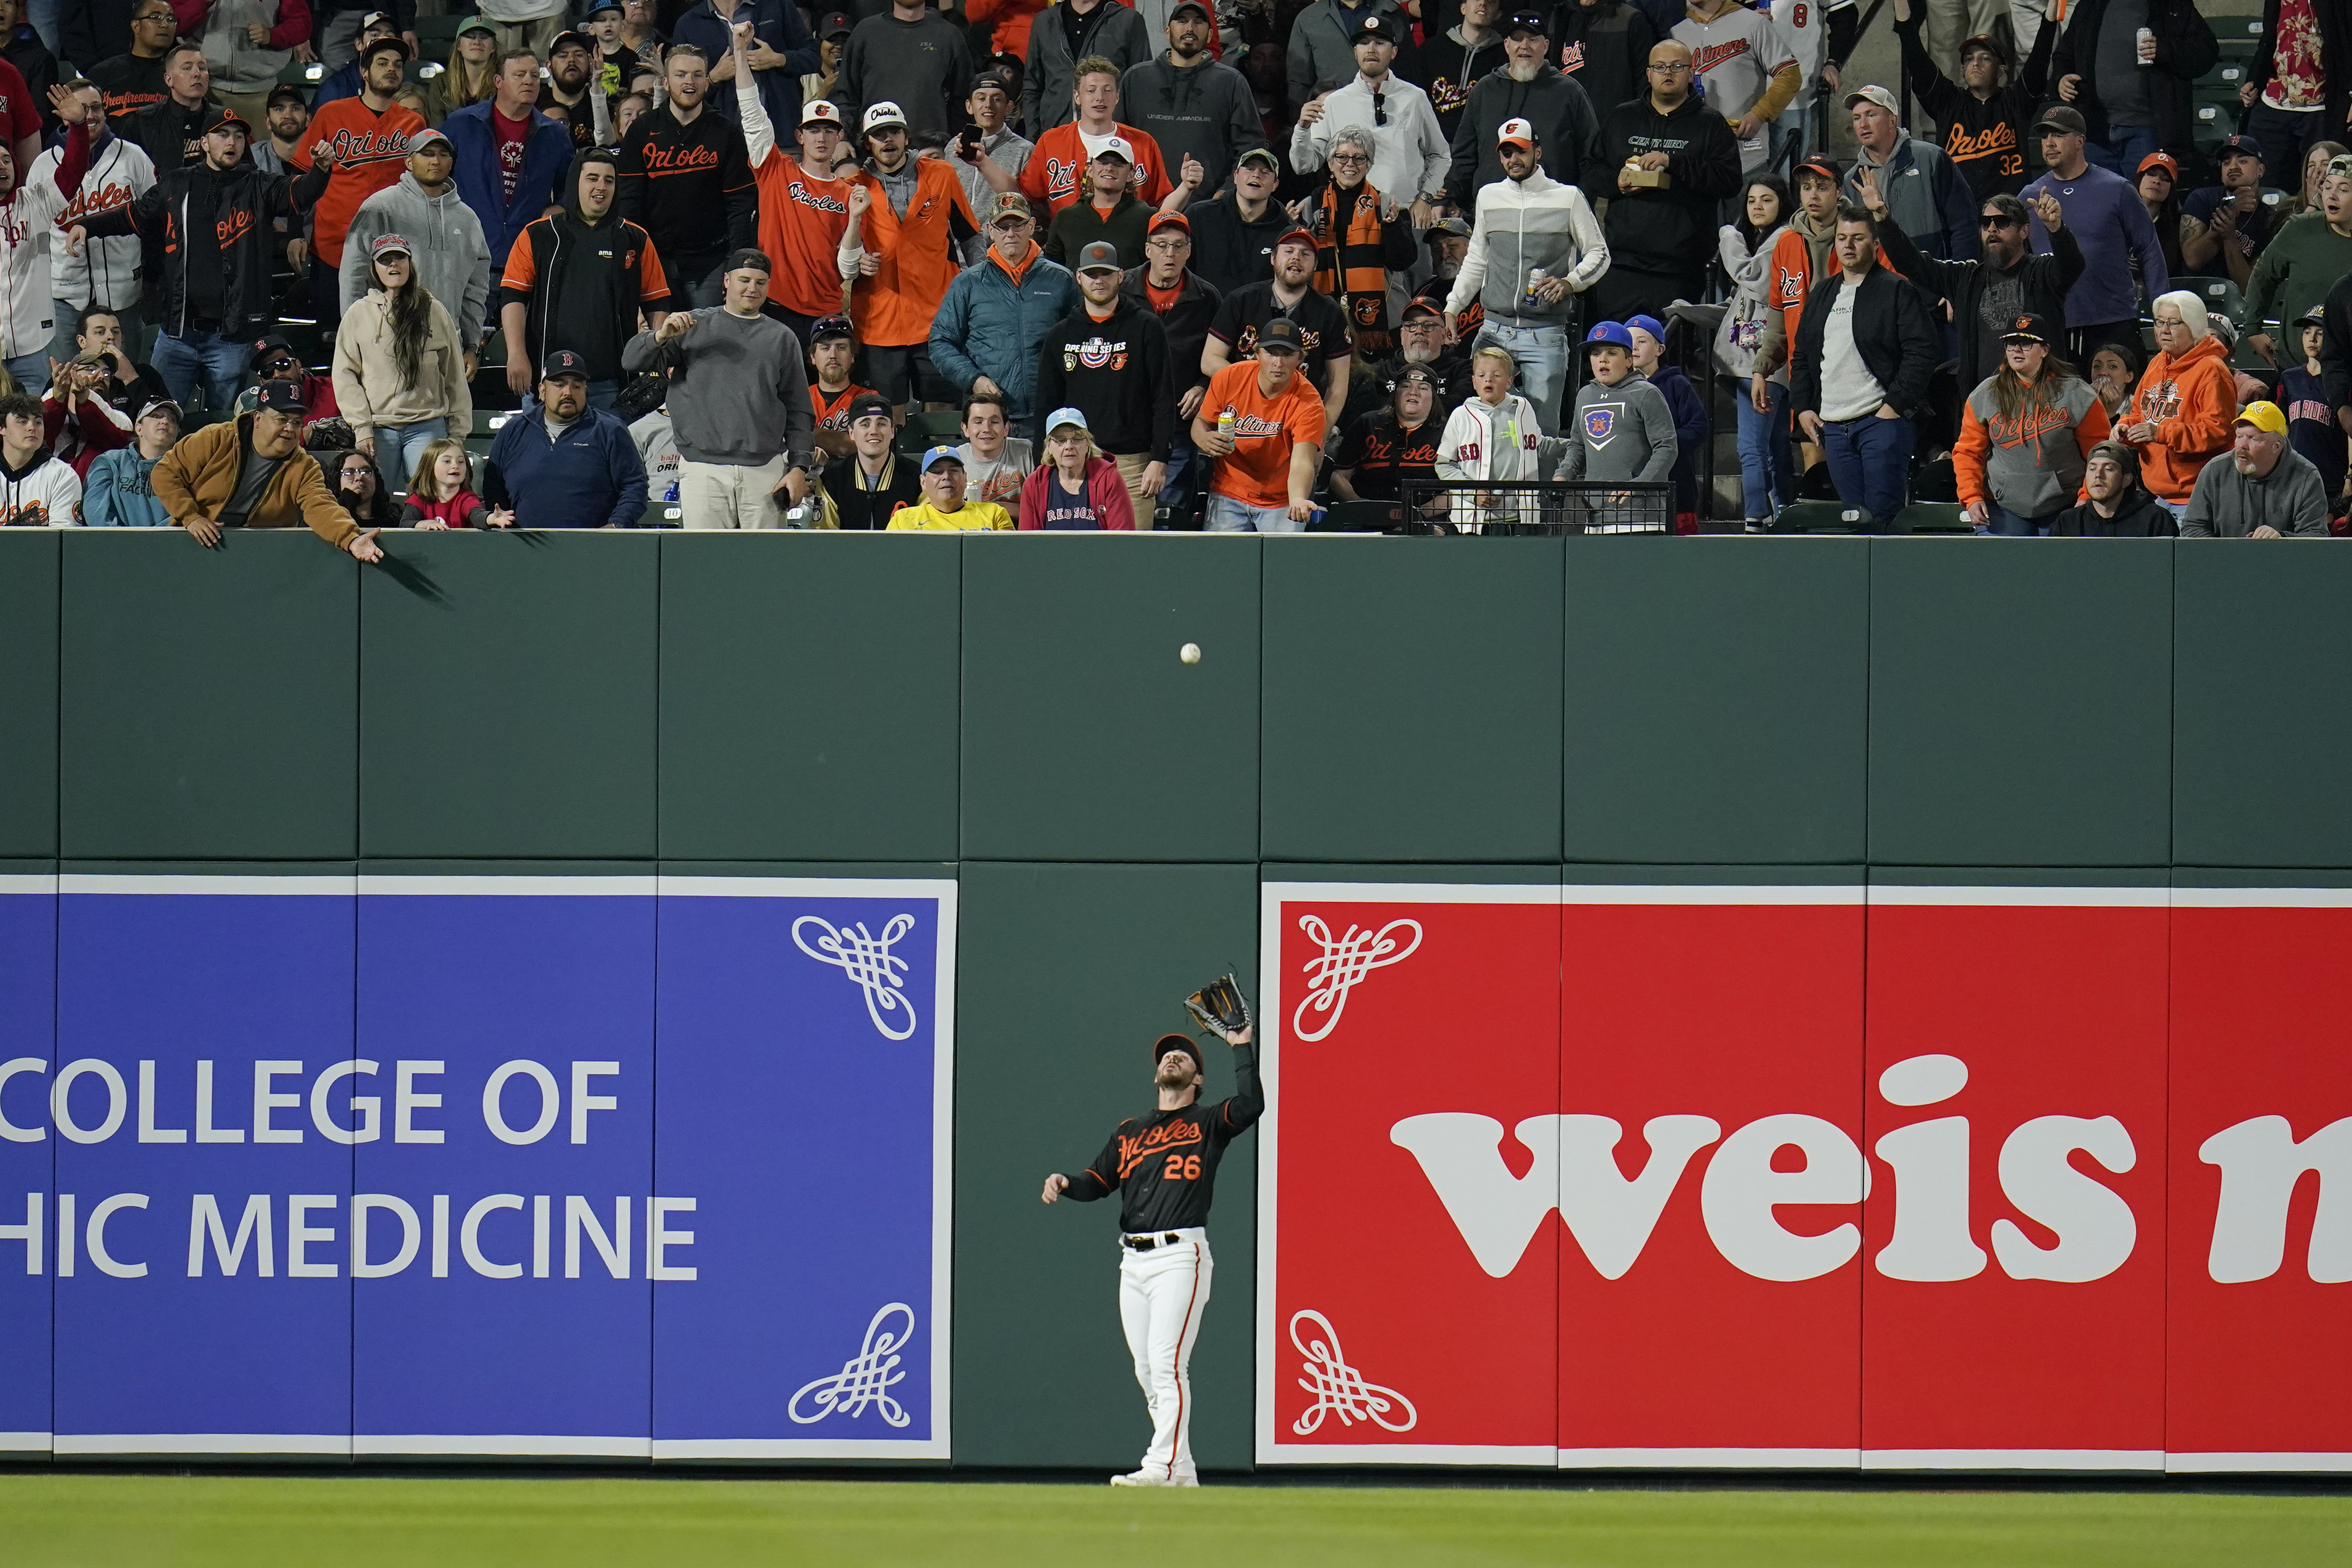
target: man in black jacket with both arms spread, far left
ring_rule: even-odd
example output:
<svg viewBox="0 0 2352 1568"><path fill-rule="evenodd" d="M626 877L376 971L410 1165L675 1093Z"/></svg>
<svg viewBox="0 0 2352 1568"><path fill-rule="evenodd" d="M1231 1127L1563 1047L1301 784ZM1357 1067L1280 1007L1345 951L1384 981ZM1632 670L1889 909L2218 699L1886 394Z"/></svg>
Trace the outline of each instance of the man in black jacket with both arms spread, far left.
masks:
<svg viewBox="0 0 2352 1568"><path fill-rule="evenodd" d="M66 235L73 249L92 235L139 235L148 320L162 327L155 369L181 407L188 407L202 376L205 407L219 414L238 400L247 346L275 322L270 221L299 221L336 172L329 146L320 141L301 179L263 174L245 155L249 134L245 120L221 115L205 132L202 162L158 169L139 200L92 214ZM191 244L198 235L230 240Z"/></svg>

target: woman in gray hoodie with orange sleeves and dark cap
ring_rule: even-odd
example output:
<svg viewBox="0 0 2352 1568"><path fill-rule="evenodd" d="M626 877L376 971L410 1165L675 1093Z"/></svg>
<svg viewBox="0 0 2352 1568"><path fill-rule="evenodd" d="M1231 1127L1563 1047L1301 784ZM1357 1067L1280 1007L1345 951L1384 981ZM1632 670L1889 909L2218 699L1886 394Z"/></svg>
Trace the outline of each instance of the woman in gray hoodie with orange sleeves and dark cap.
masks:
<svg viewBox="0 0 2352 1568"><path fill-rule="evenodd" d="M2082 371L2051 353L2063 341L2039 315L2002 334L2002 369L1985 376L1959 418L1952 473L1978 534L2049 534L2082 501L2091 447L2107 440L2107 409Z"/></svg>

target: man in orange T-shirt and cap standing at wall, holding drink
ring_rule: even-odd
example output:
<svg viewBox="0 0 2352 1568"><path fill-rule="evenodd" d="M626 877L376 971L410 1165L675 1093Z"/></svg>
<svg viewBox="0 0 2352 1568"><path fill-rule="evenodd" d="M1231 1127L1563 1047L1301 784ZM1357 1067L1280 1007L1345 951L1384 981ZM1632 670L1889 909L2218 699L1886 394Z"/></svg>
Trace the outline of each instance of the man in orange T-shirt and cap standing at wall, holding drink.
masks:
<svg viewBox="0 0 2352 1568"><path fill-rule="evenodd" d="M1324 407L1298 374L1305 346L1287 315L1258 327L1258 357L1209 376L1192 444L1209 458L1209 534L1298 534L1315 512ZM1225 423L1225 416L1232 423Z"/></svg>

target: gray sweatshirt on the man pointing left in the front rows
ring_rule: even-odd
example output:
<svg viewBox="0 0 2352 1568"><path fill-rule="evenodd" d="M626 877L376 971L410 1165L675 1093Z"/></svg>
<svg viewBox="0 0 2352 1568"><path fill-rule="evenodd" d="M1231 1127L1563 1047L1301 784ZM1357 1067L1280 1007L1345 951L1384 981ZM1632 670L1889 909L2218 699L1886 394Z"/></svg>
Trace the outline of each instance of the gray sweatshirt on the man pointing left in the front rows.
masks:
<svg viewBox="0 0 2352 1568"><path fill-rule="evenodd" d="M779 451L809 461L809 367L783 322L696 310L668 343L652 331L633 336L621 364L680 371L670 381L670 428L687 463L757 468Z"/></svg>

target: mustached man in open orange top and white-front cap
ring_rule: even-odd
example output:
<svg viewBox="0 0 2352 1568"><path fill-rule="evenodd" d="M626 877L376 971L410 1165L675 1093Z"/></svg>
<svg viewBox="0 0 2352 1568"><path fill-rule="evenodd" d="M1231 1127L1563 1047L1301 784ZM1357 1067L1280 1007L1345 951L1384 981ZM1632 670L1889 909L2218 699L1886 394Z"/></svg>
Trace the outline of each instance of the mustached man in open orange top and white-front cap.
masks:
<svg viewBox="0 0 2352 1568"><path fill-rule="evenodd" d="M896 418L924 383L950 397L931 369L931 315L962 270L962 244L981 233L964 183L946 158L910 158L896 103L866 108L866 167L849 181L849 228L840 270L851 282L849 320L866 343L858 383L891 400ZM868 242L870 240L870 242Z"/></svg>

